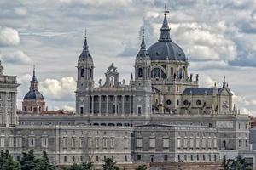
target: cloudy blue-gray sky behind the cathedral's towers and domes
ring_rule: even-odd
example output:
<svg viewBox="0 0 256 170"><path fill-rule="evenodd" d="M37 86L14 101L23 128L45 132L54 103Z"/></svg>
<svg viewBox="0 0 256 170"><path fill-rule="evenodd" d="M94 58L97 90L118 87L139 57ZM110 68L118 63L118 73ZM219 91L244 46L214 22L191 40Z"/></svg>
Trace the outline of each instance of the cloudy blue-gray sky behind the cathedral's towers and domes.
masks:
<svg viewBox="0 0 256 170"><path fill-rule="evenodd" d="M176 42L201 87L221 86L224 75L241 113L256 116L255 0L0 0L0 59L16 75L18 107L36 65L49 110L73 110L76 65L87 29L95 83L107 67L128 82L142 28L147 47L160 37L164 6Z"/></svg>

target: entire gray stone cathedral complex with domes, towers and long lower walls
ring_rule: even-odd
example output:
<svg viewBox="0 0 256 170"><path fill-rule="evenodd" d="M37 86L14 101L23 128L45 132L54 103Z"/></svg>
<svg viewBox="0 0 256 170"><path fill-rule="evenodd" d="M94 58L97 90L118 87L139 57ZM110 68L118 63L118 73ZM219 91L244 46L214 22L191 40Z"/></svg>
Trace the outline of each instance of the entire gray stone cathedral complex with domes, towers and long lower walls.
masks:
<svg viewBox="0 0 256 170"><path fill-rule="evenodd" d="M225 77L221 87L199 87L199 75L189 74L188 57L170 30L166 11L158 42L147 48L142 36L130 82L120 81L111 64L98 86L96 59L85 34L73 114L40 114L46 109L35 70L17 114L20 84L3 75L1 66L0 149L10 150L17 160L22 151L40 156L46 150L50 161L63 166L84 161L101 165L107 157L126 169L136 163L219 166L224 156L242 156L255 166L249 118L233 106Z"/></svg>

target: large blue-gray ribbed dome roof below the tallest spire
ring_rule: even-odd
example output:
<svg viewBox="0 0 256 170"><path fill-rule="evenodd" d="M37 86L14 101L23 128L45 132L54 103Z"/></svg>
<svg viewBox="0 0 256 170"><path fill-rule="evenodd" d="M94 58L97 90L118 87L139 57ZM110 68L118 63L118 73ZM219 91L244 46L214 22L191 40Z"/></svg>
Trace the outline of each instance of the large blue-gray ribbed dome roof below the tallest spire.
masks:
<svg viewBox="0 0 256 170"><path fill-rule="evenodd" d="M148 55L151 60L169 60L187 61L187 58L176 43L172 41L160 41L154 43L148 48Z"/></svg>

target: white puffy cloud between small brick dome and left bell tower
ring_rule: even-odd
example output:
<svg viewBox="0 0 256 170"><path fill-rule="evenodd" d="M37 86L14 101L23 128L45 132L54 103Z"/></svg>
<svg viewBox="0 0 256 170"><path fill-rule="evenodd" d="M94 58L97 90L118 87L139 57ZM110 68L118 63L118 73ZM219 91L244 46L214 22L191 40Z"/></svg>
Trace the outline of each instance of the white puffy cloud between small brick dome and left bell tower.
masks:
<svg viewBox="0 0 256 170"><path fill-rule="evenodd" d="M59 80L47 78L39 82L39 88L48 99L73 100L76 81L73 77L62 77Z"/></svg>

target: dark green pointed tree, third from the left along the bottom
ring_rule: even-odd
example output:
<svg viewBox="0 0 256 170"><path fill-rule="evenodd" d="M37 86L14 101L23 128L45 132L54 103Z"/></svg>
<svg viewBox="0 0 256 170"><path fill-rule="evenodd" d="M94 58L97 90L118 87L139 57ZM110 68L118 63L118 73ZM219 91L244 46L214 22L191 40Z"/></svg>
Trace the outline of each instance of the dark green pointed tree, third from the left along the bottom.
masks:
<svg viewBox="0 0 256 170"><path fill-rule="evenodd" d="M47 153L43 151L43 155L41 159L37 159L35 170L55 170L55 166L49 163L49 158Z"/></svg>

